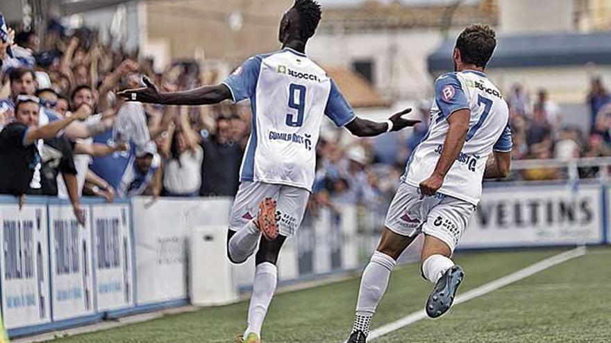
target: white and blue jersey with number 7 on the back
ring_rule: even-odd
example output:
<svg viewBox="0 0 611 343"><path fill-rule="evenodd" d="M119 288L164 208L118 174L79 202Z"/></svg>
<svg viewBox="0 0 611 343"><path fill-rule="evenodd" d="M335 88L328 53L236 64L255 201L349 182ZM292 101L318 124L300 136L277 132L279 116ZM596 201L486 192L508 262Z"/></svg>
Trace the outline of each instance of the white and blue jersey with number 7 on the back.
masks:
<svg viewBox="0 0 611 343"><path fill-rule="evenodd" d="M512 149L509 110L499 89L480 71L446 73L435 81L435 101L430 109L430 126L412 151L403 182L418 187L437 166L448 133L447 118L469 109L469 131L462 151L451 166L439 193L478 204L486 161L493 150Z"/></svg>

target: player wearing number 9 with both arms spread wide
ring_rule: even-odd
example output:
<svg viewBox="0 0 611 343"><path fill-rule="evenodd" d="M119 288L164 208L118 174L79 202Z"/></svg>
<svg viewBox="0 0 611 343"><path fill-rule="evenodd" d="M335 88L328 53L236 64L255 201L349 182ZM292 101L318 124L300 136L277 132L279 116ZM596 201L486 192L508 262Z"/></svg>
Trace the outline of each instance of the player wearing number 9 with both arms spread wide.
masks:
<svg viewBox="0 0 611 343"><path fill-rule="evenodd" d="M260 342L263 319L276 290L278 254L285 239L299 228L312 191L323 116L358 137L399 131L419 122L403 118L411 109L383 123L355 116L335 82L305 55L305 44L320 17L316 1L296 0L281 19L282 49L246 60L220 85L163 93L145 78L147 87L119 93L127 100L162 105L250 100L252 132L227 239L233 263L244 263L258 246L248 327L238 342Z"/></svg>

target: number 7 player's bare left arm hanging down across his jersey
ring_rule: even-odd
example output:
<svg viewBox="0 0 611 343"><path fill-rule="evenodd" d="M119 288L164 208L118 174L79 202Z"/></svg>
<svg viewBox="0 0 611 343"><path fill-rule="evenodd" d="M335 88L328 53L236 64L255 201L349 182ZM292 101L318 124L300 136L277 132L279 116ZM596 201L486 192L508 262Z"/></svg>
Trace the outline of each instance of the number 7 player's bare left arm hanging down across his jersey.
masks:
<svg viewBox="0 0 611 343"><path fill-rule="evenodd" d="M448 170L450 170L458 154L460 154L460 150L462 150L464 139L467 137L467 131L469 131L470 117L471 111L469 109L460 109L449 116L449 129L444 140L444 150L442 150L442 155L437 161L433 174L420 183L422 196L435 195L439 188L441 188Z"/></svg>

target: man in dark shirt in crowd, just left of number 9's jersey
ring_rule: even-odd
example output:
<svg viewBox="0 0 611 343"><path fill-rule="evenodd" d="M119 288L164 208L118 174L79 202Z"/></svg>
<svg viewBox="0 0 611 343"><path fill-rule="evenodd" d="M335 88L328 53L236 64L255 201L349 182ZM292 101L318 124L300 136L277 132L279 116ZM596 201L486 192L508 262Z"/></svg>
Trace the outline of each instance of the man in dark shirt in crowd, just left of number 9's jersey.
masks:
<svg viewBox="0 0 611 343"><path fill-rule="evenodd" d="M231 123L227 118L217 120L217 133L201 142L201 196L231 196L240 185L240 164L244 151L231 139Z"/></svg>

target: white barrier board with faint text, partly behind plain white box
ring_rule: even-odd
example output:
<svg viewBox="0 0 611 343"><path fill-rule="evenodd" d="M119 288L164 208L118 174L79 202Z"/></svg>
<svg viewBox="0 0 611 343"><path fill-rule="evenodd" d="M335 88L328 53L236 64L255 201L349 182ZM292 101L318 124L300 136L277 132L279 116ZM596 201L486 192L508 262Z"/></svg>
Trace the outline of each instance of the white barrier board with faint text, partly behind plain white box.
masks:
<svg viewBox="0 0 611 343"><path fill-rule="evenodd" d="M156 202L144 197L133 199L137 304L187 299L190 231L217 225L225 236L229 209L228 198L166 198ZM217 258L226 257L223 254Z"/></svg>

